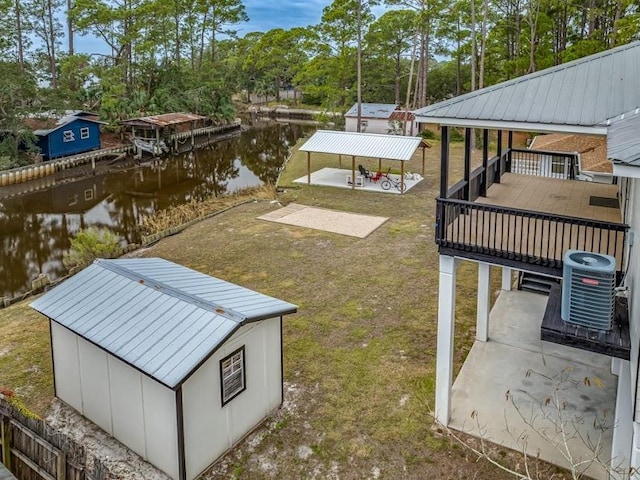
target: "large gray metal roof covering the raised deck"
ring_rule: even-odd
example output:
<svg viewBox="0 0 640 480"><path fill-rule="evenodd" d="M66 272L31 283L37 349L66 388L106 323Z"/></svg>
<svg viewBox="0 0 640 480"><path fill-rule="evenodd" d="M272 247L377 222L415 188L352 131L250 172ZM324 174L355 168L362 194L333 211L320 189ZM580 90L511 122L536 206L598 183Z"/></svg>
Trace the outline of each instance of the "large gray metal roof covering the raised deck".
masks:
<svg viewBox="0 0 640 480"><path fill-rule="evenodd" d="M524 75L416 110L419 122L606 134L640 107L640 42Z"/></svg>

